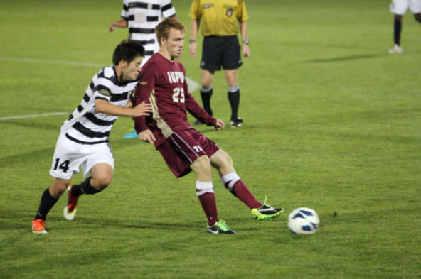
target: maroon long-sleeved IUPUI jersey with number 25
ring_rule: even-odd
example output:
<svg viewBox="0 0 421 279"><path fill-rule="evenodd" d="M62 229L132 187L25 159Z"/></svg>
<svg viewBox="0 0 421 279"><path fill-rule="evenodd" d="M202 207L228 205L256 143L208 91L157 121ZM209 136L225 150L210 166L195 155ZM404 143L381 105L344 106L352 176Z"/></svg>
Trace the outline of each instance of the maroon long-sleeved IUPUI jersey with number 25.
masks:
<svg viewBox="0 0 421 279"><path fill-rule="evenodd" d="M155 147L176 131L190 129L187 111L208 126L216 119L210 116L188 92L186 70L177 61L171 62L161 53L155 53L142 67L139 85L134 93L133 106L150 102L151 116L134 119L134 128L139 133L149 128L156 138Z"/></svg>

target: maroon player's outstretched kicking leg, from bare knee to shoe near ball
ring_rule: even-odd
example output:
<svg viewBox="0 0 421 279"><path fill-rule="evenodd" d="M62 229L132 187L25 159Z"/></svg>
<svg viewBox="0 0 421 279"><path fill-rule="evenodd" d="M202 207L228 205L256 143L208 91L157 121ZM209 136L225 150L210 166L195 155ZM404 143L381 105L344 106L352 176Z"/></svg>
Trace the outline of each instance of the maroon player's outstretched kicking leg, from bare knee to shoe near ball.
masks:
<svg viewBox="0 0 421 279"><path fill-rule="evenodd" d="M283 208L271 207L265 204L265 202L259 202L252 195L252 192L250 192L243 180L235 172L233 160L225 151L222 149L216 151L210 156L210 163L218 170L223 185L251 209L252 214L255 215L257 220L272 219L278 217L283 212Z"/></svg>

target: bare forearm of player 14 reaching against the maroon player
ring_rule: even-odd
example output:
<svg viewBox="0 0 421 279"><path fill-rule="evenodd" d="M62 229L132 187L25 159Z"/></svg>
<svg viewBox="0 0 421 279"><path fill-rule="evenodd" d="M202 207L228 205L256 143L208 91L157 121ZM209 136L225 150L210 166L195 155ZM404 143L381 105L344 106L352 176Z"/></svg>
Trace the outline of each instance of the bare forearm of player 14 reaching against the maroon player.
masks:
<svg viewBox="0 0 421 279"><path fill-rule="evenodd" d="M142 102L133 108L127 108L110 104L106 99L95 99L95 110L102 114L137 117L149 115L152 112L152 106Z"/></svg>

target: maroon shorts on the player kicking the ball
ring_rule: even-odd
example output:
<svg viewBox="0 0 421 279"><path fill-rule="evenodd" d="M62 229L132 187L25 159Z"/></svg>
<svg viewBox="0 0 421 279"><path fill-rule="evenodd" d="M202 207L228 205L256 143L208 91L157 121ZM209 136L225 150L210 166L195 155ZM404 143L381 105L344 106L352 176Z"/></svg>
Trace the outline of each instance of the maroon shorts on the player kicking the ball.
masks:
<svg viewBox="0 0 421 279"><path fill-rule="evenodd" d="M166 165L176 177L187 175L194 160L202 155L210 157L218 149L218 144L193 128L173 133L158 147Z"/></svg>

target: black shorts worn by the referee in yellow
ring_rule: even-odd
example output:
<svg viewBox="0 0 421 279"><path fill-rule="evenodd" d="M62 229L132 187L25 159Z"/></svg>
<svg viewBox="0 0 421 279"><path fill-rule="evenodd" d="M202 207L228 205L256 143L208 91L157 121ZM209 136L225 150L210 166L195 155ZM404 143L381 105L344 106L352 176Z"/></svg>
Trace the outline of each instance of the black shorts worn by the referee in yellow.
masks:
<svg viewBox="0 0 421 279"><path fill-rule="evenodd" d="M203 38L201 68L210 72L238 69L241 61L240 45L237 35L215 36Z"/></svg>

